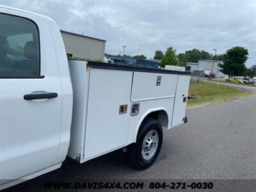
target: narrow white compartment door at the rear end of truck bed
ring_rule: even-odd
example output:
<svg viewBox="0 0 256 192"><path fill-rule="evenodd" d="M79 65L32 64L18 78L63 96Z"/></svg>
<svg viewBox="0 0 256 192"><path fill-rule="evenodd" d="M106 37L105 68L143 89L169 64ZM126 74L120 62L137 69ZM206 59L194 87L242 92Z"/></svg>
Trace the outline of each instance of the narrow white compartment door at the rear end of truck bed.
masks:
<svg viewBox="0 0 256 192"><path fill-rule="evenodd" d="M172 127L184 123L188 100L189 81L190 76L179 75L178 77L173 108Z"/></svg>

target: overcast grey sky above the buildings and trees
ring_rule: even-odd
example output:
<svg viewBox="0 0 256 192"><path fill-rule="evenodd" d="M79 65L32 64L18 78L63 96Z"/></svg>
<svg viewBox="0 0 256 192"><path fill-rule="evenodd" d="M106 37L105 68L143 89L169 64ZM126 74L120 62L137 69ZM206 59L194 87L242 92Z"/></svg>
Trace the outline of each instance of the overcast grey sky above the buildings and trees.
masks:
<svg viewBox="0 0 256 192"><path fill-rule="evenodd" d="M1 4L42 13L61 29L107 40L106 52L154 57L169 46L177 53L203 49L223 54L234 46L256 64L256 0L245 1L33 1Z"/></svg>

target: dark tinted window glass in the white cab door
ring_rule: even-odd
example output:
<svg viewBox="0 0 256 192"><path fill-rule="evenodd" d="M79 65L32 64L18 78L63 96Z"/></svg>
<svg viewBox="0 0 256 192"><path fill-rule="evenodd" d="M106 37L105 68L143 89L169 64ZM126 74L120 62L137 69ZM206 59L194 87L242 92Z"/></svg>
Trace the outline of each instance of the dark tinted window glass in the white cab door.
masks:
<svg viewBox="0 0 256 192"><path fill-rule="evenodd" d="M36 24L0 13L0 78L40 76L40 46Z"/></svg>

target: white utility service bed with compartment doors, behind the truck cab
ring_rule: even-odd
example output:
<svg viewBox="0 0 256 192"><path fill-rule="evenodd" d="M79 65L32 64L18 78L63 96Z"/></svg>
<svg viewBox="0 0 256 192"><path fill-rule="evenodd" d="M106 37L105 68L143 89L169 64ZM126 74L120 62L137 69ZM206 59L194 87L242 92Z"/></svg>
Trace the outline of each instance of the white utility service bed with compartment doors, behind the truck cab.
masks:
<svg viewBox="0 0 256 192"><path fill-rule="evenodd" d="M68 156L79 163L134 143L142 120L154 111L161 110L157 118L168 129L184 123L188 72L93 61L68 63L74 92ZM131 116L136 103L140 111ZM120 114L126 105L126 112Z"/></svg>

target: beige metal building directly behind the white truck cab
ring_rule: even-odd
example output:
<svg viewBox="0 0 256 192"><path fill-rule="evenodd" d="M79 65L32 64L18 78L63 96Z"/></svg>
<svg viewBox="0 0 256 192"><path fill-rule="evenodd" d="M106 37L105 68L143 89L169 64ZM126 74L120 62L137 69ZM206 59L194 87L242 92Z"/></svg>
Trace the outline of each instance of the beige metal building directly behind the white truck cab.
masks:
<svg viewBox="0 0 256 192"><path fill-rule="evenodd" d="M103 60L106 40L61 30L68 57Z"/></svg>

